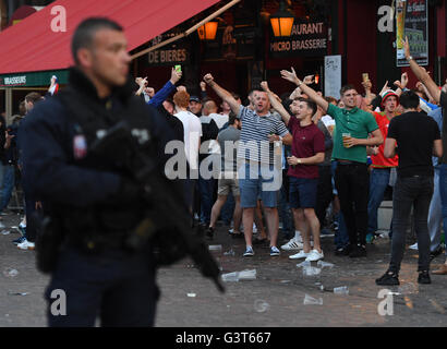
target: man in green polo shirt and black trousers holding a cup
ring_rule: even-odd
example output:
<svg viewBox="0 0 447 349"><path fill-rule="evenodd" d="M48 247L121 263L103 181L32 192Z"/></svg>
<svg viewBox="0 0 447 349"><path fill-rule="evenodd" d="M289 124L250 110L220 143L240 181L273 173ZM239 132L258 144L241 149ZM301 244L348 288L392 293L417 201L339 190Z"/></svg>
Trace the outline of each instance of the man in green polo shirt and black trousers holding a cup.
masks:
<svg viewBox="0 0 447 349"><path fill-rule="evenodd" d="M315 91L303 84L294 72L281 71L281 76L301 88L324 111L335 119L333 159L338 163L335 182L349 233L346 254L366 256L369 173L366 146L384 142L374 117L355 106L357 91L352 85L341 88L345 108L328 104ZM306 76L306 81L310 76ZM312 79L312 77L311 77Z"/></svg>

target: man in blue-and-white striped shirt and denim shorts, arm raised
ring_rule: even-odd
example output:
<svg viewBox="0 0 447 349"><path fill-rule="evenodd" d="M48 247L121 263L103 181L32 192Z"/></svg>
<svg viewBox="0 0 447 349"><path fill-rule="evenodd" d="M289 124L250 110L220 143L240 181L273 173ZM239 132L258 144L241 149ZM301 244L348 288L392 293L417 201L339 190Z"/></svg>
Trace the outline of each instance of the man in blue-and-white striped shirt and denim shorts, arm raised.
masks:
<svg viewBox="0 0 447 349"><path fill-rule="evenodd" d="M279 255L276 246L278 238L277 197L281 188L281 167L274 166L274 142L292 143L292 136L282 121L269 112L270 104L265 92L258 92L255 99L255 110L240 105L233 96L214 81L212 74L206 74L204 81L216 94L231 107L242 122L241 140L238 148L238 174L241 191L242 221L244 227L246 250L244 256L254 255L253 218L261 195L265 207L268 231L270 233L270 255ZM279 143L279 164L281 152ZM276 154L275 154L276 155Z"/></svg>

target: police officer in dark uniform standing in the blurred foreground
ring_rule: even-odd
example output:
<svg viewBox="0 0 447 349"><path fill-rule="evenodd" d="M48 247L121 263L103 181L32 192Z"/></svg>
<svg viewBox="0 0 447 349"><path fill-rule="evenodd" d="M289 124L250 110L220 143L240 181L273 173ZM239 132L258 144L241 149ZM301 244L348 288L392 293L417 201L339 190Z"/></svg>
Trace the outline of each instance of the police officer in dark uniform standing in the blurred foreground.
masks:
<svg viewBox="0 0 447 349"><path fill-rule="evenodd" d="M45 293L49 326L94 326L97 316L101 326L154 325L159 293L152 249L128 250L123 242L144 216L142 189L90 151L125 120L164 170L172 132L134 96L126 44L123 28L108 19L82 22L72 38L68 87L37 105L20 131L25 185L63 236Z"/></svg>

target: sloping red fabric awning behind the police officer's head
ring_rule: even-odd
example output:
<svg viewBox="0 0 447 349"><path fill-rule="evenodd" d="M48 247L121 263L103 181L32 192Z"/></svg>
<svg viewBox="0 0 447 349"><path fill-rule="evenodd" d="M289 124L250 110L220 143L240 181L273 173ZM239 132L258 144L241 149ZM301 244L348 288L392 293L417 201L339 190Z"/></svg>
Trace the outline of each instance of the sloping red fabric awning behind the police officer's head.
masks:
<svg viewBox="0 0 447 349"><path fill-rule="evenodd" d="M89 16L107 16L125 29L129 50L169 31L219 0L59 0L0 33L0 74L60 70L73 64L71 37ZM63 7L67 32L51 22ZM55 9L55 14L51 14ZM57 21L55 21L57 23Z"/></svg>

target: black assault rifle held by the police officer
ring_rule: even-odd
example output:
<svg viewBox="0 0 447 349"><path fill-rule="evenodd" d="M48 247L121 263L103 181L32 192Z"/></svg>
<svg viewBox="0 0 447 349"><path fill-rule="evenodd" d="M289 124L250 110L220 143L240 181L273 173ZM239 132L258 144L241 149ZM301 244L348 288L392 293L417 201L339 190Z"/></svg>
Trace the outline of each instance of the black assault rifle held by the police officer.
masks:
<svg viewBox="0 0 447 349"><path fill-rule="evenodd" d="M158 265L172 264L190 255L202 274L224 292L216 261L202 237L191 228L183 190L178 181L169 181L161 173L154 147L148 151L152 154L143 152L128 123L121 121L98 139L90 151L113 161L144 188L146 217L129 233L126 248L137 250L150 241Z"/></svg>

